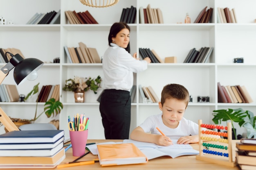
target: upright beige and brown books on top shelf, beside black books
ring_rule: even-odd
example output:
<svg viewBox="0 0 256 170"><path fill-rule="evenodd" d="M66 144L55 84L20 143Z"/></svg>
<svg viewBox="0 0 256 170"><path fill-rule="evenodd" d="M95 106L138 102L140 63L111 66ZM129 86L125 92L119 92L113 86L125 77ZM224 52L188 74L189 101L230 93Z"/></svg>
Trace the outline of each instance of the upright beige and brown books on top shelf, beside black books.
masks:
<svg viewBox="0 0 256 170"><path fill-rule="evenodd" d="M146 8L139 8L140 24L164 24L164 18L161 9L151 8L150 4Z"/></svg>

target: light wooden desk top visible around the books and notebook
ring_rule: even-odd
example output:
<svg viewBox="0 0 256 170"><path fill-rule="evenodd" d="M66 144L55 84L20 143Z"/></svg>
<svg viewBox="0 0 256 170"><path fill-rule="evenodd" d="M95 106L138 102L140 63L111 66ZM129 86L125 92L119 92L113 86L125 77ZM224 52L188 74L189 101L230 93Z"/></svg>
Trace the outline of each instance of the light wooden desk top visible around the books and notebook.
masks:
<svg viewBox="0 0 256 170"><path fill-rule="evenodd" d="M98 142L98 143L103 143L103 142L122 142L123 140L104 140L104 139L88 139L88 143L91 142ZM233 160L235 160L235 144L239 140L233 140L232 143L232 148L233 148ZM191 144L191 146L195 150L199 150L199 145L198 144ZM77 157L72 156L72 149L67 150L66 152L66 158L65 160L61 163L64 164L65 162L70 162L76 159ZM92 155L91 153L88 155L85 155L85 157L81 158L79 161L89 161L92 159L97 159L98 157L96 155ZM59 170L167 170L167 169L182 169L182 170L205 170L205 169L211 169L211 170L238 170L238 167L228 167L228 166L222 166L218 165L216 163L210 163L207 161L201 161L198 159L195 159L195 155L188 155L188 156L181 156L181 157L176 157L175 159L164 156L164 157L158 157L155 159L150 159L148 163L143 163L143 164L134 164L134 165L121 165L121 166L108 166L108 167L101 167L99 165L99 162L96 162L94 164L90 165L84 165L84 166L73 166L69 168L60 168ZM57 168L55 168L57 169ZM33 169L30 169L33 170ZM38 170L38 169L37 169Z"/></svg>

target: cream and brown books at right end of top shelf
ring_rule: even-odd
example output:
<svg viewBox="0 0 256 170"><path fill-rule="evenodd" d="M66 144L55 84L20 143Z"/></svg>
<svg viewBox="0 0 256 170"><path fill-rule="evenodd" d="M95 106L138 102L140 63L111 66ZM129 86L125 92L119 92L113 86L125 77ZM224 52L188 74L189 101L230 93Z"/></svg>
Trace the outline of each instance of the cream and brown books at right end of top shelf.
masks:
<svg viewBox="0 0 256 170"><path fill-rule="evenodd" d="M220 8L218 7L217 22L218 23L237 23L235 9Z"/></svg>

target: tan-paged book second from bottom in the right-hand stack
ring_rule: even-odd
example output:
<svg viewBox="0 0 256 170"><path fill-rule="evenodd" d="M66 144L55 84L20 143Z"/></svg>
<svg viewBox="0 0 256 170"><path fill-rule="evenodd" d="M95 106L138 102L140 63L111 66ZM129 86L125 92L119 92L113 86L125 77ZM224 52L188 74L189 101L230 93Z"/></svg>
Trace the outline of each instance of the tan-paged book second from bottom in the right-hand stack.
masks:
<svg viewBox="0 0 256 170"><path fill-rule="evenodd" d="M246 155L243 150L236 150L236 160L238 164L256 166L256 157Z"/></svg>

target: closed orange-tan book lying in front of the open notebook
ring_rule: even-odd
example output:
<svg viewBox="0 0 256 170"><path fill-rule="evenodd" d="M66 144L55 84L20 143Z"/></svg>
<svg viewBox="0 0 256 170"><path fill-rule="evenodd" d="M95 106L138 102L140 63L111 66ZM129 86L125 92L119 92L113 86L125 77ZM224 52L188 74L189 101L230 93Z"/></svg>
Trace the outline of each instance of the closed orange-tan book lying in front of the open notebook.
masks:
<svg viewBox="0 0 256 170"><path fill-rule="evenodd" d="M147 157L134 144L98 144L101 166L147 163Z"/></svg>

